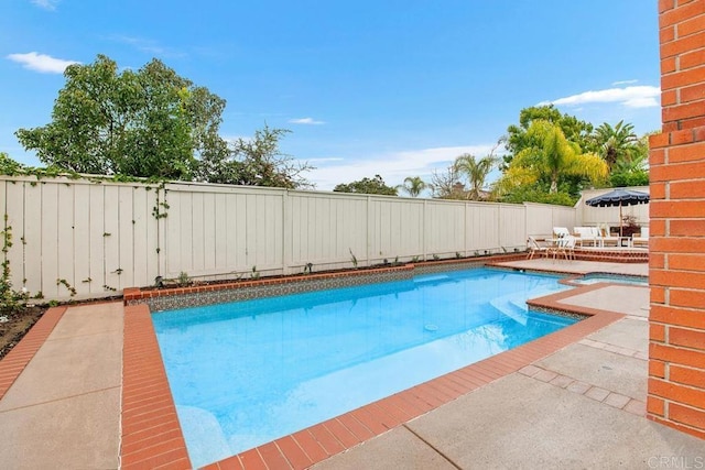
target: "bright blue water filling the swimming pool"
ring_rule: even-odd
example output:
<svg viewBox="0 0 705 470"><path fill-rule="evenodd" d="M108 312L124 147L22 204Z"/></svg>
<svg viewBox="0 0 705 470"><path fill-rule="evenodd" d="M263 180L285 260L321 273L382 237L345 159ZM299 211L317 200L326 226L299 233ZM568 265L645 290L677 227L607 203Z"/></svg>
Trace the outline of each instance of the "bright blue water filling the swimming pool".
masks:
<svg viewBox="0 0 705 470"><path fill-rule="evenodd" d="M558 330L555 276L476 269L152 315L194 466Z"/></svg>

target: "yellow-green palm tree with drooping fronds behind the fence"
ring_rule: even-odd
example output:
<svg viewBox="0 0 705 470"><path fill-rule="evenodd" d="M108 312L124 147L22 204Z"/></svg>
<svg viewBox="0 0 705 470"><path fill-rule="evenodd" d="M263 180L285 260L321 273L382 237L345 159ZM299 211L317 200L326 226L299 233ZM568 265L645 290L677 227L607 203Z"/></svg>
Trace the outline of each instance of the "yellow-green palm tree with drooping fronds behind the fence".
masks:
<svg viewBox="0 0 705 470"><path fill-rule="evenodd" d="M587 177L593 183L607 176L609 168L605 161L597 154L582 153L579 145L570 142L560 127L536 120L527 134L535 138L535 144L514 156L498 184L500 190L544 179L550 183L549 193L556 194L563 176Z"/></svg>

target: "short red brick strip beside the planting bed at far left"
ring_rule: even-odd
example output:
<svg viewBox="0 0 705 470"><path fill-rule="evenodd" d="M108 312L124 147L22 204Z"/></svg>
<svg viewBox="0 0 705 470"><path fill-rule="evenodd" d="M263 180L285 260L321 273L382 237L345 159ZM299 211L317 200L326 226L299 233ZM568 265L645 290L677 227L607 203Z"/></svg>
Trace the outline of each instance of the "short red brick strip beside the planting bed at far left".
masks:
<svg viewBox="0 0 705 470"><path fill-rule="evenodd" d="M68 307L62 306L46 310L24 338L2 358L0 361L0 400L44 345L67 309Z"/></svg>

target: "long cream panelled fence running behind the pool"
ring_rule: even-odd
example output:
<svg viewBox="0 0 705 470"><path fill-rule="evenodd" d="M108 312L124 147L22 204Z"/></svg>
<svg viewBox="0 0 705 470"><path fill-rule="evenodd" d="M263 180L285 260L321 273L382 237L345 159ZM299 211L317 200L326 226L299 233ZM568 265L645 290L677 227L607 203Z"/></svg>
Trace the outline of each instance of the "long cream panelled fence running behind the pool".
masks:
<svg viewBox="0 0 705 470"><path fill-rule="evenodd" d="M575 209L210 184L0 176L12 285L100 297L232 278L522 251Z"/></svg>

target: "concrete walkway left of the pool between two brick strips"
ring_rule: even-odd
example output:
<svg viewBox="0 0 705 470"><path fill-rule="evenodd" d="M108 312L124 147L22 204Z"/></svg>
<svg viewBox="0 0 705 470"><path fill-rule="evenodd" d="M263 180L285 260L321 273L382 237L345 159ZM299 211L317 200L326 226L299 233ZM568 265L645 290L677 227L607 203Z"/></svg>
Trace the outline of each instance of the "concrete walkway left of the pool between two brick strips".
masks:
<svg viewBox="0 0 705 470"><path fill-rule="evenodd" d="M1 467L117 468L121 383L122 304L68 308L0 400Z"/></svg>

